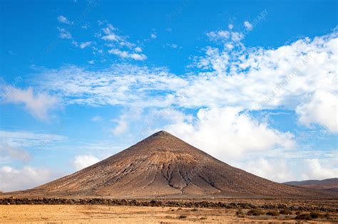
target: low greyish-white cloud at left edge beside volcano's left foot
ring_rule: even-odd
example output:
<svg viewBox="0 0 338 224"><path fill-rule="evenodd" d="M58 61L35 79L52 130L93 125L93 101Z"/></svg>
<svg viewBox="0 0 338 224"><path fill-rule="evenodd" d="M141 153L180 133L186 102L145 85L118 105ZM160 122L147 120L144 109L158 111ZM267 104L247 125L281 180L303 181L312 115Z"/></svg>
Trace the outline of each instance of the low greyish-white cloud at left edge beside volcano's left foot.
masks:
<svg viewBox="0 0 338 224"><path fill-rule="evenodd" d="M46 168L24 166L22 169L14 169L11 166L1 166L0 190L19 191L34 188L58 176Z"/></svg>

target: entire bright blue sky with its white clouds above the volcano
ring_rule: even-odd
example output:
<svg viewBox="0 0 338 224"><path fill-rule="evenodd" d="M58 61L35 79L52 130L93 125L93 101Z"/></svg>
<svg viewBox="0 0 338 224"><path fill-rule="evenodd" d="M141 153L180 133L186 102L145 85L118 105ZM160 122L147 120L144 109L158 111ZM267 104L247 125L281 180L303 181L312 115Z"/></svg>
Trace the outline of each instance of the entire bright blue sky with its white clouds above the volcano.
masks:
<svg viewBox="0 0 338 224"><path fill-rule="evenodd" d="M337 177L337 1L0 5L0 190L160 129L274 181Z"/></svg>

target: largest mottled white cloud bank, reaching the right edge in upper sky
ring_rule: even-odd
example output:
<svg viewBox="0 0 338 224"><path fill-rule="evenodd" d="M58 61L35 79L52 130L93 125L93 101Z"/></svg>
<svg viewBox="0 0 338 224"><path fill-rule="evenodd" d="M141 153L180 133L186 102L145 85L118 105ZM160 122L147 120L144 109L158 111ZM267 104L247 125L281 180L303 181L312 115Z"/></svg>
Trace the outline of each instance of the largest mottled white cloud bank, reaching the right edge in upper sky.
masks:
<svg viewBox="0 0 338 224"><path fill-rule="evenodd" d="M228 43L229 33L209 33ZM225 41L225 42L223 42ZM176 93L183 107L240 106L249 110L285 108L295 110L309 92L337 94L337 33L289 46L206 49L197 61L203 70Z"/></svg>

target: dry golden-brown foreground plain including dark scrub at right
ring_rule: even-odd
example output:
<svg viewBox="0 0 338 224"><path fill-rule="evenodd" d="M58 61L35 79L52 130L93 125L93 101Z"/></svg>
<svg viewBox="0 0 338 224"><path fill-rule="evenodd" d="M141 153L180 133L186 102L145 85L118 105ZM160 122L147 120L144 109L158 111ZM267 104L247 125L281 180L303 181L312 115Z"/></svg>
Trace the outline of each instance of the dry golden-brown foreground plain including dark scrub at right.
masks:
<svg viewBox="0 0 338 224"><path fill-rule="evenodd" d="M2 201L0 223L338 223L337 200L228 199L219 201L227 208L206 208L213 205L208 202L193 203L196 208L187 201L155 201L153 206ZM176 206L159 206L170 203Z"/></svg>

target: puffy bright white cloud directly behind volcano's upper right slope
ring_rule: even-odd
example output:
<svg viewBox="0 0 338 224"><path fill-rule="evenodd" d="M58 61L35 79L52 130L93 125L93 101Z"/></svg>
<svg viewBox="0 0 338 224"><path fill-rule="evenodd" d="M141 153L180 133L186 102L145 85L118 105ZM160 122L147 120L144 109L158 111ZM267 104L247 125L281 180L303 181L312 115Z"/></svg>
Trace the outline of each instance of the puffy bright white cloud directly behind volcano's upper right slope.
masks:
<svg viewBox="0 0 338 224"><path fill-rule="evenodd" d="M194 122L177 122L165 129L220 159L295 146L292 134L257 122L235 107L200 109Z"/></svg>

